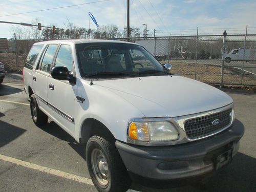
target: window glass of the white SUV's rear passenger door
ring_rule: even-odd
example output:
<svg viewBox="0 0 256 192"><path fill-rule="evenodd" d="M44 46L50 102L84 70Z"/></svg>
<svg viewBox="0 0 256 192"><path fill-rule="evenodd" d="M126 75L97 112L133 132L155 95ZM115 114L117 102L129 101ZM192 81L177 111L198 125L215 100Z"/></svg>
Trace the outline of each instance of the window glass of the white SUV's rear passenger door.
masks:
<svg viewBox="0 0 256 192"><path fill-rule="evenodd" d="M42 61L38 68L40 71L45 71L47 73L50 72L52 61L53 61L53 58L54 58L57 48L58 48L58 45L49 45L48 46L48 48L45 52L44 58L42 58Z"/></svg>

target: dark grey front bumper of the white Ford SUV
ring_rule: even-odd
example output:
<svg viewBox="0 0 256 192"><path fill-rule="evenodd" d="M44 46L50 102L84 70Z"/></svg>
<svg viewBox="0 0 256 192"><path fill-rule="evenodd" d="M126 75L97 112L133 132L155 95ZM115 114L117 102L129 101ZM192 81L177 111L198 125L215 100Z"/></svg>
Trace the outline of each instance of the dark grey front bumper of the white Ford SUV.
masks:
<svg viewBox="0 0 256 192"><path fill-rule="evenodd" d="M215 169L214 156L239 149L243 124L236 120L227 130L198 141L171 146L138 146L116 141L129 172L154 180L184 179L205 175Z"/></svg>

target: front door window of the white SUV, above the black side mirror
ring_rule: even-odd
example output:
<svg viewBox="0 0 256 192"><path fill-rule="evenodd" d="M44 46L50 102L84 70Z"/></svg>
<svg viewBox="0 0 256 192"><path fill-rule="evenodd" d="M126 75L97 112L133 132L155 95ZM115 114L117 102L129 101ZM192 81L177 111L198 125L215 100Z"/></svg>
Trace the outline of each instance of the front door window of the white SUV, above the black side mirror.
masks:
<svg viewBox="0 0 256 192"><path fill-rule="evenodd" d="M66 66L69 71L72 71L73 57L72 49L69 45L61 45L55 61L55 66Z"/></svg>

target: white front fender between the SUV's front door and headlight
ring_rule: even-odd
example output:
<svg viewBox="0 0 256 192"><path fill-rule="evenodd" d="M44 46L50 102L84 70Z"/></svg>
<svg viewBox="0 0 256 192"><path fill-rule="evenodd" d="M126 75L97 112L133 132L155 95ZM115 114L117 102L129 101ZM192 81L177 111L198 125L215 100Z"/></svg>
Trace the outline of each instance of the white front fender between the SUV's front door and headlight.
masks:
<svg viewBox="0 0 256 192"><path fill-rule="evenodd" d="M116 139L126 142L128 121L134 117L143 118L144 115L117 94L97 84L90 86L89 83L83 82L87 98L80 103L77 111L76 140L81 138L84 121L93 118L105 125Z"/></svg>

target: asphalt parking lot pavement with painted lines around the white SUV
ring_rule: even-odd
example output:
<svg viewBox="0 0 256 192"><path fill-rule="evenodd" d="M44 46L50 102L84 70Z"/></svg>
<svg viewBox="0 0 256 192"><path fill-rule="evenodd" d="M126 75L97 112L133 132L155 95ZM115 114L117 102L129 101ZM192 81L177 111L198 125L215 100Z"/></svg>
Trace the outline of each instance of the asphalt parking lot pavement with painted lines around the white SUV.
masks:
<svg viewBox="0 0 256 192"><path fill-rule="evenodd" d="M223 91L233 98L238 123L245 127L232 163L195 185L155 189L133 183L130 191L255 191L256 93ZM36 127L22 77L5 78L0 85L0 191L96 191L84 154L85 146L51 119Z"/></svg>

